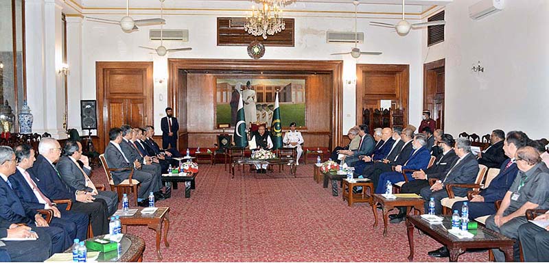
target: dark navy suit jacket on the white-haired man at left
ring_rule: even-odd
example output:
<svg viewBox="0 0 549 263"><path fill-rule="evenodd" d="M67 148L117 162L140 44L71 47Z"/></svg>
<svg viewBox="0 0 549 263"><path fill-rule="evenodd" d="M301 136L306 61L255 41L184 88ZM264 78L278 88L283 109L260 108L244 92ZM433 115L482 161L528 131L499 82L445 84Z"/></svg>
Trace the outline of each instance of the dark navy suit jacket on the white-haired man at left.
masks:
<svg viewBox="0 0 549 263"><path fill-rule="evenodd" d="M27 169L27 172L36 177L36 185L51 201L54 199L71 199L75 201L76 190L61 179L54 166L43 155L39 154L36 157L36 162L34 162L32 168Z"/></svg>

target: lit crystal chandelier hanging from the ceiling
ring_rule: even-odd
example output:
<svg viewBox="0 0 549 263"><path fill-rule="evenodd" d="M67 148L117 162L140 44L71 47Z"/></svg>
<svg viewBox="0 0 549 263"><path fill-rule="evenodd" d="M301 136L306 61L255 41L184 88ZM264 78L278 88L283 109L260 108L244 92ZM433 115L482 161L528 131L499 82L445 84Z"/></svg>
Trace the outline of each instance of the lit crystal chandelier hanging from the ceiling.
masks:
<svg viewBox="0 0 549 263"><path fill-rule="evenodd" d="M274 35L285 29L285 23L282 18L282 10L279 5L271 5L263 1L262 9L255 9L252 7L252 12L246 16L246 24L244 24L244 30L253 36L263 36L263 39L267 39L267 35ZM279 0L288 1L288 0Z"/></svg>

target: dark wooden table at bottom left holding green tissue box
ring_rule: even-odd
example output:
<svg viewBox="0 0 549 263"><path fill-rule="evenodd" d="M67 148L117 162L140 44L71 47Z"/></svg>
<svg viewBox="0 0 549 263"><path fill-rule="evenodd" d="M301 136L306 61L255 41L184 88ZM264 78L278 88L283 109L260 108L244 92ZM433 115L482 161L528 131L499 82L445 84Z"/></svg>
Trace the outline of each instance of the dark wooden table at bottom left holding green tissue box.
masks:
<svg viewBox="0 0 549 263"><path fill-rule="evenodd" d="M95 240L102 238L105 235L95 236L88 238L87 240ZM120 240L122 246L121 253L118 251L109 251L107 253L100 252L97 262L142 262L143 251L145 251L145 241L139 236L132 234L124 234ZM71 248L67 249L65 253L72 253Z"/></svg>

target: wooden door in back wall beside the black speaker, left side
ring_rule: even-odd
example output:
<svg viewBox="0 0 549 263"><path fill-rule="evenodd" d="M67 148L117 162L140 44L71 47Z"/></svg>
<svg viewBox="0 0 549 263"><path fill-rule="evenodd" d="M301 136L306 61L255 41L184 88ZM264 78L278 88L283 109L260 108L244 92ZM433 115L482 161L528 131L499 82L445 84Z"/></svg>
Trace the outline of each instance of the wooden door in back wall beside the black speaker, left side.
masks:
<svg viewBox="0 0 549 263"><path fill-rule="evenodd" d="M96 62L97 136L103 152L111 127L153 122L152 62Z"/></svg>

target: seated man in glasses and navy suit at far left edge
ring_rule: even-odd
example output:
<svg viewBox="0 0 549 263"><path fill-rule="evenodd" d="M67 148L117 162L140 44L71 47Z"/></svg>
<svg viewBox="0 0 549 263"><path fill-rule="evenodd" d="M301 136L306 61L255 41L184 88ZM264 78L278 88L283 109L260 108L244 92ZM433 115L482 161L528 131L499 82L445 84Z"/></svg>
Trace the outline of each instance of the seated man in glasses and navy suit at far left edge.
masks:
<svg viewBox="0 0 549 263"><path fill-rule="evenodd" d="M21 203L8 180L15 173L16 158L13 150L8 146L0 146L0 218L9 224L23 223L31 227L40 227L51 236L52 251L65 251L71 240L67 231L60 227L50 227L47 221L36 212Z"/></svg>

